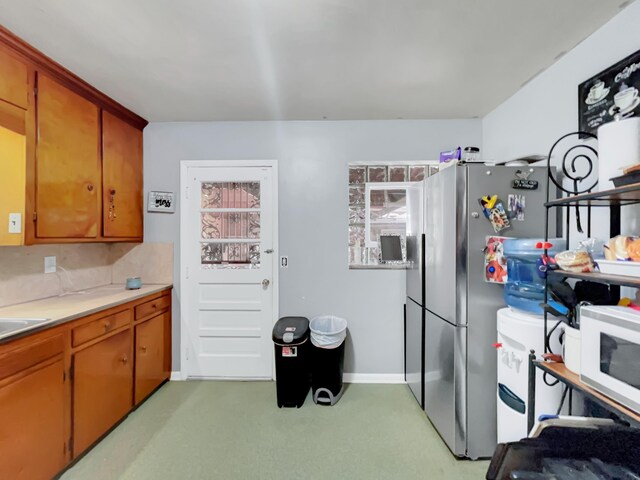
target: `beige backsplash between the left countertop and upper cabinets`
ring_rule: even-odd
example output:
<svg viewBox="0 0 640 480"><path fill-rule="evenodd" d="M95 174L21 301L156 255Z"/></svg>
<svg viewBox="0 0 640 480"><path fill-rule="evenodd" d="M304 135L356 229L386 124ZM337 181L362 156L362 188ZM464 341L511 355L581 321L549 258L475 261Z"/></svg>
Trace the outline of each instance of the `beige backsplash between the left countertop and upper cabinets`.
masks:
<svg viewBox="0 0 640 480"><path fill-rule="evenodd" d="M44 257L55 256L56 273L44 272ZM0 247L0 306L69 291L124 283L172 283L173 244L65 244Z"/></svg>

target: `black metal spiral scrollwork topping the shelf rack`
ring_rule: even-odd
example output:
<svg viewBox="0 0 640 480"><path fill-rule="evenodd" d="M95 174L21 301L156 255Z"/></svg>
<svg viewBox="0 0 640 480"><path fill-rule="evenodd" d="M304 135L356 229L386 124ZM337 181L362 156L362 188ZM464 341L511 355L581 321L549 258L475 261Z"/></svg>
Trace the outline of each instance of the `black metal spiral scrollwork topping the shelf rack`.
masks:
<svg viewBox="0 0 640 480"><path fill-rule="evenodd" d="M566 139L578 136L578 138L583 140L597 140L598 137L593 133L588 132L571 132L567 133L560 137L549 150L549 155L547 156L547 202L550 200L550 183L551 181L560 192L566 193L568 196L580 195L582 193L590 193L596 185L598 185L598 179L591 182L586 182L587 186L584 186L585 181L589 179L592 173L596 173L594 161L598 158L598 151L592 145L587 144L586 142L581 142L578 144L574 144L567 148L564 155L562 155L562 161L558 167L562 169L562 179L566 179L571 183L573 188L569 188L562 179L556 179L556 175L554 174L554 169L551 165L551 160L554 155L557 153L558 148L561 146L563 141ZM584 233L582 230L582 222L580 219L580 209L576 206L576 223L577 230L580 233ZM568 216L567 216L567 228L568 225ZM567 232L568 233L568 232ZM587 208L587 235L591 234L591 208ZM568 238L567 238L568 243Z"/></svg>

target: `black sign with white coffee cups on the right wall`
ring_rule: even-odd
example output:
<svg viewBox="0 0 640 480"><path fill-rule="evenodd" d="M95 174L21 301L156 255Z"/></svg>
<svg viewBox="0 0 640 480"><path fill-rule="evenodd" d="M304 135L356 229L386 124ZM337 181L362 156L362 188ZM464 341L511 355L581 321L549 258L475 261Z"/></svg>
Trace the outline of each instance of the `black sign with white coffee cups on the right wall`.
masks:
<svg viewBox="0 0 640 480"><path fill-rule="evenodd" d="M578 128L596 134L613 120L640 115L640 50L578 86Z"/></svg>

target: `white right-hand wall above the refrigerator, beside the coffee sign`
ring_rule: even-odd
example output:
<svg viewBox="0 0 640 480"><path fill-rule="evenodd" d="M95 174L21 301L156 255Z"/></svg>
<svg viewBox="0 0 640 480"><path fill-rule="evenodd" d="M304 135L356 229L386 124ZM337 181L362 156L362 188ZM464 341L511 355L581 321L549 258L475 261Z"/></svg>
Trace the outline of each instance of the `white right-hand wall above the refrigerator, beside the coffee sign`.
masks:
<svg viewBox="0 0 640 480"><path fill-rule="evenodd" d="M483 118L485 158L546 155L578 129L578 85L639 49L636 1Z"/></svg>

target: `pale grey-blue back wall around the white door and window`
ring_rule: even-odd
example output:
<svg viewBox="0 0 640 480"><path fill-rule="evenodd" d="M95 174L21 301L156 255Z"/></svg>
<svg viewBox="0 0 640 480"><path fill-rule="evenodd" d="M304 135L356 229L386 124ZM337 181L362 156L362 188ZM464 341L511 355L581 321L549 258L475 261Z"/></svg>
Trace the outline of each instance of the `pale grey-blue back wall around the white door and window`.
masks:
<svg viewBox="0 0 640 480"><path fill-rule="evenodd" d="M345 372L402 374L403 271L347 267L349 162L433 160L479 145L480 120L155 123L144 133L145 190L179 191L181 160L277 159L280 316L349 322ZM145 216L147 241L174 242L174 370L179 369L179 214Z"/></svg>

